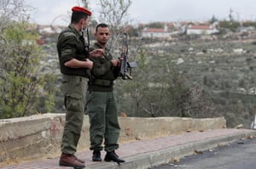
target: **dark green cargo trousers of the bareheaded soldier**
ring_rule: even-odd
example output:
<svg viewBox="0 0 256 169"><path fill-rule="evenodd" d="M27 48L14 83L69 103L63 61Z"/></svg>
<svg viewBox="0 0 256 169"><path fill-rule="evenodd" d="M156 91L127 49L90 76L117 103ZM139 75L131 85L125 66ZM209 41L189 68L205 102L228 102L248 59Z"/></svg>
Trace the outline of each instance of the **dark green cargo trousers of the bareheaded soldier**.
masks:
<svg viewBox="0 0 256 169"><path fill-rule="evenodd" d="M90 117L90 149L110 152L119 148L118 110L113 92L86 93L86 108Z"/></svg>

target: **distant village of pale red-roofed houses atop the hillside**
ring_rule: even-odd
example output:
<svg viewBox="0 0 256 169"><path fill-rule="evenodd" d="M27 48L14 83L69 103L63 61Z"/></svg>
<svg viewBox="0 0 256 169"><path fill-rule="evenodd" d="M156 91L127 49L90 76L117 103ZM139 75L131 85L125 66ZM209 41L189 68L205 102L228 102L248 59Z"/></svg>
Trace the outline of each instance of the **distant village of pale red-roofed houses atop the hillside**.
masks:
<svg viewBox="0 0 256 169"><path fill-rule="evenodd" d="M241 38L241 36L247 37L256 37L255 36L255 23L250 22L251 24L245 24L241 22L230 22L223 21L220 23L219 21L215 21L213 23L209 22L155 22L153 24L140 24L137 28L129 26L130 29L136 30L137 37L145 37L145 38L161 38L166 40L172 40L172 37L177 37L177 35L201 35L201 36L212 36L220 33L220 31L224 30L224 22L225 26L229 25L229 31L225 31L226 38ZM253 23L253 24L252 24ZM61 32L66 26L60 25L38 25L38 32L41 35L49 35ZM128 26L127 26L128 27ZM236 30L234 30L236 27ZM93 28L91 28L93 31ZM228 30L228 29L225 29ZM234 34L238 33L239 35ZM133 33L134 34L134 33ZM243 35L241 35L243 34ZM131 35L134 36L134 35ZM44 37L43 37L44 38Z"/></svg>

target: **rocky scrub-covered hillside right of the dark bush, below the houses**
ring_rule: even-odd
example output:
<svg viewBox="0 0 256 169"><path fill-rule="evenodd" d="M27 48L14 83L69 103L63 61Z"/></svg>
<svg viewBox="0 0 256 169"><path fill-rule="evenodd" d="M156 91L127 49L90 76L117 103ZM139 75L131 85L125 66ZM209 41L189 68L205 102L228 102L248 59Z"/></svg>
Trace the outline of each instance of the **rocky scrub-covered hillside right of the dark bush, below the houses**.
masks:
<svg viewBox="0 0 256 169"><path fill-rule="evenodd" d="M208 41L201 36L192 40L187 37L186 41L154 42L147 47L153 56L150 59L158 62L155 65L168 60L191 86L204 86L213 103L213 114L224 116L229 127L250 127L256 106L256 46L252 38Z"/></svg>

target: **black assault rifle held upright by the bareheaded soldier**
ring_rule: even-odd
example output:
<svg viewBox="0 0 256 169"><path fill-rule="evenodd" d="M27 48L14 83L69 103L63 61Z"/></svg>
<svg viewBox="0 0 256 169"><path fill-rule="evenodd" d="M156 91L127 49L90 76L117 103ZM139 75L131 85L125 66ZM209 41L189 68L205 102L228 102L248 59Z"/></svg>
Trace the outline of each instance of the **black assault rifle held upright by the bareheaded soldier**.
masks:
<svg viewBox="0 0 256 169"><path fill-rule="evenodd" d="M121 53L121 63L120 63L120 71L119 76L122 77L123 80L131 80L131 68L137 67L137 63L128 62L128 34L124 33L123 35L123 46Z"/></svg>

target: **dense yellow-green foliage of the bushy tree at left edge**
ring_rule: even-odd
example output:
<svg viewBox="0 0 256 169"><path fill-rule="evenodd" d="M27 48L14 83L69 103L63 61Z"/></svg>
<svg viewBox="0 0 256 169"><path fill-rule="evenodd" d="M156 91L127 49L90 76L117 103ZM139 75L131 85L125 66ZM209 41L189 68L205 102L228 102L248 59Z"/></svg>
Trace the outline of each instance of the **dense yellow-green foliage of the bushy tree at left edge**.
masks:
<svg viewBox="0 0 256 169"><path fill-rule="evenodd" d="M35 72L38 67L38 47L35 35L27 33L24 22L9 23L3 31L1 44L1 117L24 116L36 100L35 90L40 79ZM32 112L30 112L32 113Z"/></svg>

